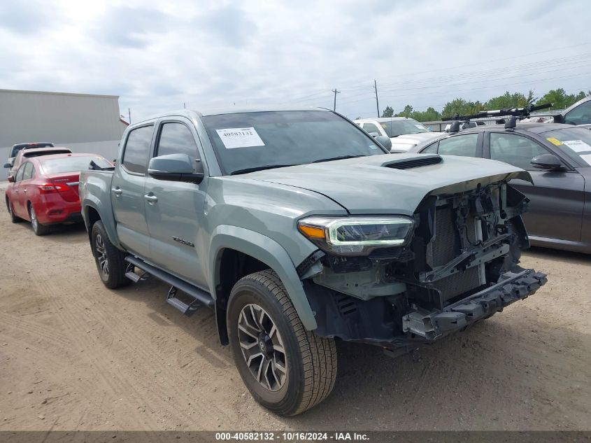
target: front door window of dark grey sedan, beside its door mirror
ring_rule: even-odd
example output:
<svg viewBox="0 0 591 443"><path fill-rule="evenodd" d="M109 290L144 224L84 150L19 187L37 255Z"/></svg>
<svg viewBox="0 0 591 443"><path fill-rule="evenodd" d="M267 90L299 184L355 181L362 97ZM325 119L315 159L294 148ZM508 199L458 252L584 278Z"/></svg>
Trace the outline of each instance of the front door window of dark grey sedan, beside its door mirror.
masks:
<svg viewBox="0 0 591 443"><path fill-rule="evenodd" d="M548 150L527 137L515 134L490 134L490 158L521 169L534 170L529 162L538 155L547 154Z"/></svg>

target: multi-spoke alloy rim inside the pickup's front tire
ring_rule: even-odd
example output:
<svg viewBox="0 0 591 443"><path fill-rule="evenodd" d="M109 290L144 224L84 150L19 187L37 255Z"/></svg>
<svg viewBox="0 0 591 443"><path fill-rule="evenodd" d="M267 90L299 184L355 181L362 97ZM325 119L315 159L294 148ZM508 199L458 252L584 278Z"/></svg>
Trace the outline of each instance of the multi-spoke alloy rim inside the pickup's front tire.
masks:
<svg viewBox="0 0 591 443"><path fill-rule="evenodd" d="M287 356L273 319L258 304L247 304L238 317L238 341L252 377L269 391L287 380Z"/></svg>

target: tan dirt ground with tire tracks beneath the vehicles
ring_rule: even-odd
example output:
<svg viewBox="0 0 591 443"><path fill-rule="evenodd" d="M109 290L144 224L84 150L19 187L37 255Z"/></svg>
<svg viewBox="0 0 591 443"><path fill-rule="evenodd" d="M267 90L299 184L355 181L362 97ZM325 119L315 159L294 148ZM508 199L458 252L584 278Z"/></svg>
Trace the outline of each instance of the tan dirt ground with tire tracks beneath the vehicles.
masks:
<svg viewBox="0 0 591 443"><path fill-rule="evenodd" d="M332 395L285 419L246 391L210 311L106 289L83 226L0 211L0 430L589 430L591 256L533 249L536 295L392 359L339 344Z"/></svg>

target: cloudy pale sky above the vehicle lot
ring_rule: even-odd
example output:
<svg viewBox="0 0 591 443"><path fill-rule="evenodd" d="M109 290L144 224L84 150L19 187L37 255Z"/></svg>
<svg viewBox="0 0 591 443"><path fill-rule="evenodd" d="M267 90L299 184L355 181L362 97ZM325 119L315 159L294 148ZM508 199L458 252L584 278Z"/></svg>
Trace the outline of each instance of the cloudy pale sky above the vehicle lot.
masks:
<svg viewBox="0 0 591 443"><path fill-rule="evenodd" d="M588 0L3 1L0 89L178 108L332 108L349 118L591 90Z"/></svg>

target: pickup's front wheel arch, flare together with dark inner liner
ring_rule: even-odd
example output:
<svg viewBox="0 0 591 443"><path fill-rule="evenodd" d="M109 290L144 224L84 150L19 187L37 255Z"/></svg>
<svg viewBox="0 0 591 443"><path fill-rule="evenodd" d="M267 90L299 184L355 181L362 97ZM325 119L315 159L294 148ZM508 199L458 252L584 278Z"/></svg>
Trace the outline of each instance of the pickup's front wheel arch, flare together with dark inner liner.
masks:
<svg viewBox="0 0 591 443"><path fill-rule="evenodd" d="M208 278L215 295L215 319L222 344L228 343L226 307L229 291L243 276L272 269L307 330L318 328L296 268L287 251L273 239L241 227L220 225L212 234Z"/></svg>

